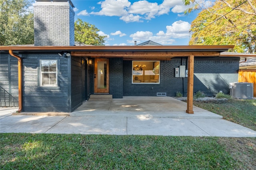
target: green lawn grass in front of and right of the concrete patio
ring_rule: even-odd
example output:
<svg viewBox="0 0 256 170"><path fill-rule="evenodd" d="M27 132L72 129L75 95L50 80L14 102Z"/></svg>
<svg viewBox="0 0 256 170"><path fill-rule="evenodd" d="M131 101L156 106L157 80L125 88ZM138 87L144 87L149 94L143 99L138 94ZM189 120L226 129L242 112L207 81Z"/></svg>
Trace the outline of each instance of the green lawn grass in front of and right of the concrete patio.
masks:
<svg viewBox="0 0 256 170"><path fill-rule="evenodd" d="M256 100L194 102L256 129ZM256 169L256 138L0 134L0 169Z"/></svg>

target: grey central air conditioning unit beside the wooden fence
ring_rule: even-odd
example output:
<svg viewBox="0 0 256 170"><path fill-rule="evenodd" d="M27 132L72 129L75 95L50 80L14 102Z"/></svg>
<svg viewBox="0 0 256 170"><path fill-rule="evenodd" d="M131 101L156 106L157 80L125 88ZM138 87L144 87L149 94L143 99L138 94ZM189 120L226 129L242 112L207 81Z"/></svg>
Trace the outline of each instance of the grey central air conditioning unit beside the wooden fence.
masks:
<svg viewBox="0 0 256 170"><path fill-rule="evenodd" d="M253 83L235 82L230 83L231 96L238 99L252 99L253 98Z"/></svg>

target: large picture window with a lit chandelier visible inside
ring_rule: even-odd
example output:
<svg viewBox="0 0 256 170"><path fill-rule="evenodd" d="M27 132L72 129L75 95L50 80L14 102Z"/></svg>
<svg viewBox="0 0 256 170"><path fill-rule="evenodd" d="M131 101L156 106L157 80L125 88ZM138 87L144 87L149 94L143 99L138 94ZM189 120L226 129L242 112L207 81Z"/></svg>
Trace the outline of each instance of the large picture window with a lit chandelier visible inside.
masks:
<svg viewBox="0 0 256 170"><path fill-rule="evenodd" d="M160 83L160 61L132 61L132 83Z"/></svg>

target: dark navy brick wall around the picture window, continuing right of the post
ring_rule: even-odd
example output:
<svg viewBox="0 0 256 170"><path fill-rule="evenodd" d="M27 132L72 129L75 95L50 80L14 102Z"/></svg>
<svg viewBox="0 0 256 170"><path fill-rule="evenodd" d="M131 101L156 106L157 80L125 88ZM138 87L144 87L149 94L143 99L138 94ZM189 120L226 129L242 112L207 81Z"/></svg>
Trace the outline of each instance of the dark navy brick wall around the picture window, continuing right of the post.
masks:
<svg viewBox="0 0 256 170"><path fill-rule="evenodd" d="M187 58L174 58L160 61L160 84L132 84L132 61L124 61L124 96L156 96L157 92L166 92L175 96L176 92L187 95L188 78L174 77L174 68L185 65ZM209 96L219 91L229 94L229 83L238 81L239 59L195 58L194 92L200 90Z"/></svg>

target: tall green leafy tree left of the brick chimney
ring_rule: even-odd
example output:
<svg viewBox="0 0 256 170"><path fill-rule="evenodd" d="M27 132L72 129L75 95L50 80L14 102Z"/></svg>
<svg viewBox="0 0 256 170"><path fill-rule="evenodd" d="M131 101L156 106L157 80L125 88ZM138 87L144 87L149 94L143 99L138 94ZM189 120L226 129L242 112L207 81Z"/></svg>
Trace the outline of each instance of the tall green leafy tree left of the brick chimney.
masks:
<svg viewBox="0 0 256 170"><path fill-rule="evenodd" d="M34 43L31 0L0 0L0 45Z"/></svg>

